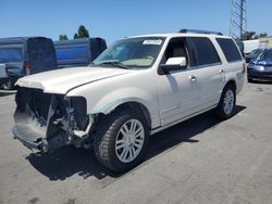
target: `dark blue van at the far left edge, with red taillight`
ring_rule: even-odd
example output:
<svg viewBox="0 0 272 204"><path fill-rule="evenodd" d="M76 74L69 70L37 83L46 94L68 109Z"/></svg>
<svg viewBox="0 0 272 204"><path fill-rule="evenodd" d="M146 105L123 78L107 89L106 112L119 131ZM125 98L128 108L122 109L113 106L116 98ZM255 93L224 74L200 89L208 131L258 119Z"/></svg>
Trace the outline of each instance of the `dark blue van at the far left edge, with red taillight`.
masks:
<svg viewBox="0 0 272 204"><path fill-rule="evenodd" d="M2 87L12 89L23 76L57 67L53 42L45 37L1 38L0 64L5 65L9 76Z"/></svg>

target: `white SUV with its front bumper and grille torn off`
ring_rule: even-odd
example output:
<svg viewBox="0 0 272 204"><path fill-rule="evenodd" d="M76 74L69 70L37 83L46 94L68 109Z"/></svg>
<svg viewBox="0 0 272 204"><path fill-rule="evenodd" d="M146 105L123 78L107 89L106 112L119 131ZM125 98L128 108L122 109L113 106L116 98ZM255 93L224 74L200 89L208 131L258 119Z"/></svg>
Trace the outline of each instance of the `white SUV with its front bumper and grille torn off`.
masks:
<svg viewBox="0 0 272 204"><path fill-rule="evenodd" d="M13 133L42 152L94 146L98 161L123 171L141 161L150 135L212 109L231 117L244 77L230 37L191 30L129 37L87 67L18 79Z"/></svg>

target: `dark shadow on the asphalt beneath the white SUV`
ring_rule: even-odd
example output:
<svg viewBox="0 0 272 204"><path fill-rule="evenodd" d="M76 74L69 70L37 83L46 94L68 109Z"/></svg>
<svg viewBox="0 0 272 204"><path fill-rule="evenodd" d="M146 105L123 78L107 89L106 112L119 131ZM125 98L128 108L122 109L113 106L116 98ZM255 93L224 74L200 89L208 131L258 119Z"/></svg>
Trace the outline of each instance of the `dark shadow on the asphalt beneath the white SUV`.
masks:
<svg viewBox="0 0 272 204"><path fill-rule="evenodd" d="M245 106L237 106L236 113L245 110ZM163 153L183 142L190 142L193 145L198 140L194 136L213 128L220 123L212 112L205 113L195 118L178 124L150 138L149 151L145 161ZM50 180L64 180L75 174L83 178L95 176L103 179L106 176L118 178L122 174L108 170L100 165L92 151L64 146L53 154L32 153L26 157L29 163Z"/></svg>

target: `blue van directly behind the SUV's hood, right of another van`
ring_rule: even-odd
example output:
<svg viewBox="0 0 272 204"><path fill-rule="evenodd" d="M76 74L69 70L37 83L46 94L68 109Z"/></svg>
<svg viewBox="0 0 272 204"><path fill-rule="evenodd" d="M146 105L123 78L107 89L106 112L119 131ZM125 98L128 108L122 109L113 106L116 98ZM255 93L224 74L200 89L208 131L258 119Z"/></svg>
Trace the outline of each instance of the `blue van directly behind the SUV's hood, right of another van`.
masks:
<svg viewBox="0 0 272 204"><path fill-rule="evenodd" d="M106 40L102 38L84 38L74 40L54 41L58 67L87 66L102 51L106 50Z"/></svg>

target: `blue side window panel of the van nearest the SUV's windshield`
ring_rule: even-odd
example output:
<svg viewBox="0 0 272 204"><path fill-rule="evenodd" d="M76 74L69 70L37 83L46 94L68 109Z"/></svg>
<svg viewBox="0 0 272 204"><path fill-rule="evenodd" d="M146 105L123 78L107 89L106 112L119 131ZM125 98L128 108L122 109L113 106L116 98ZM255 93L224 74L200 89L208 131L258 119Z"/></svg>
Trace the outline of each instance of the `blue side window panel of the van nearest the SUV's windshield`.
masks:
<svg viewBox="0 0 272 204"><path fill-rule="evenodd" d="M87 47L55 48L58 60L82 60L88 59Z"/></svg>

